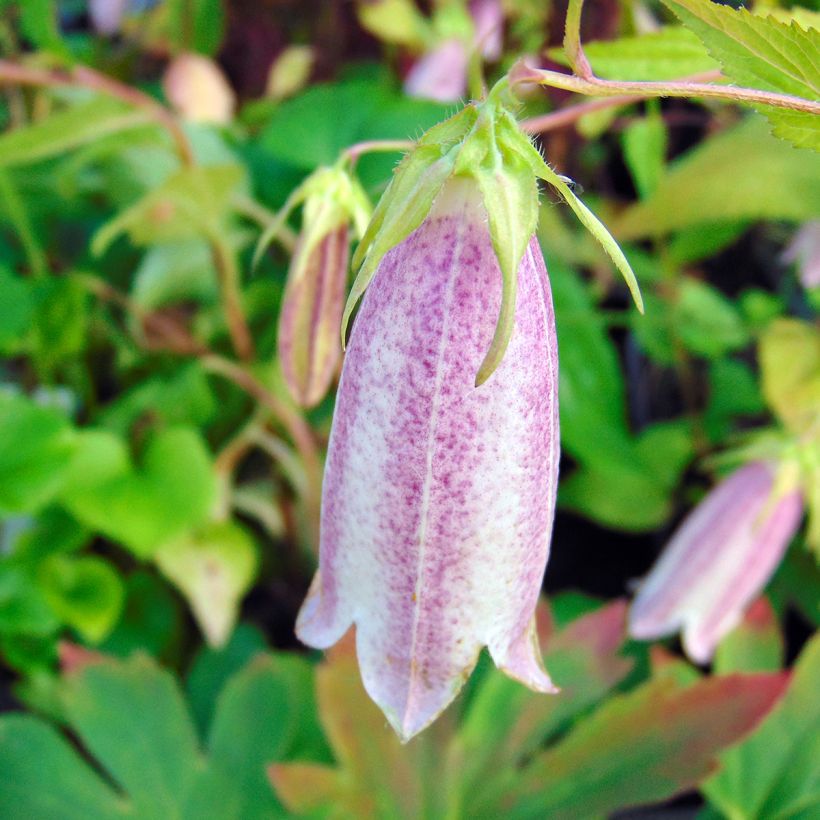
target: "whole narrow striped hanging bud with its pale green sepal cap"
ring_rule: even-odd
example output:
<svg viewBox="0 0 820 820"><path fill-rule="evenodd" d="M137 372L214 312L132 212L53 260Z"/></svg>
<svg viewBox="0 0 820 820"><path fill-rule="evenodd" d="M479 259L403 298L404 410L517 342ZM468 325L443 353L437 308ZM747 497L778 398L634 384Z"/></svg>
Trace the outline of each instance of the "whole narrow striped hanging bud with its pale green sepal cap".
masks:
<svg viewBox="0 0 820 820"><path fill-rule="evenodd" d="M288 390L299 405L313 407L327 393L342 353L339 325L350 255L348 226L352 221L361 236L370 203L340 167L312 174L280 221L301 200L302 230L288 269L277 344ZM260 247L265 241L263 237Z"/></svg>

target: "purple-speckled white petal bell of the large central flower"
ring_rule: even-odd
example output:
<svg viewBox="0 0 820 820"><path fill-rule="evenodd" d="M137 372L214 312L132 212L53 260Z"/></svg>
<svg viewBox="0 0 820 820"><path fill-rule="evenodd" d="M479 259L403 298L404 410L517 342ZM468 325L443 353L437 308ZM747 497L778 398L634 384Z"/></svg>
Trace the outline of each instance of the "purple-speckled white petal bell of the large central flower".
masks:
<svg viewBox="0 0 820 820"><path fill-rule="evenodd" d="M455 698L483 646L553 692L534 613L558 481L558 360L533 238L488 380L502 276L472 181L445 183L379 263L339 386L320 567L297 623L326 648L356 624L365 688L407 740Z"/></svg>

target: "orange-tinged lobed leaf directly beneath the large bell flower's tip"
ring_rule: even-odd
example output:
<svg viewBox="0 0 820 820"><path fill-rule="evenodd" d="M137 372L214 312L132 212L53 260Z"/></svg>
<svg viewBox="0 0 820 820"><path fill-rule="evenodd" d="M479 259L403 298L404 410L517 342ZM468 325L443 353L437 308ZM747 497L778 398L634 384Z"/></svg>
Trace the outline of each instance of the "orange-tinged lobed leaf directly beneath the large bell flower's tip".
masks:
<svg viewBox="0 0 820 820"><path fill-rule="evenodd" d="M555 663L562 687L557 697L533 694L487 669L458 732L450 713L405 746L367 697L346 642L317 673L322 722L339 767L271 767L280 799L297 813L339 817L477 816L488 789L497 793L514 782L528 755L628 674L632 661L617 654L625 610L616 601L546 640L545 660ZM537 616L539 634L549 634L545 605Z"/></svg>

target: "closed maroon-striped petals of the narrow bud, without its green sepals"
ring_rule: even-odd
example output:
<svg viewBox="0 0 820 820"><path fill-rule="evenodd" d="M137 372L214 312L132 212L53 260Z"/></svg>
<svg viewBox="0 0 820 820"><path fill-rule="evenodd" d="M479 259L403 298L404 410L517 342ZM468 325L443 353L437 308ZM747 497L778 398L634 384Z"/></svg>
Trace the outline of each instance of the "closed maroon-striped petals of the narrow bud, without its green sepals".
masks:
<svg viewBox="0 0 820 820"><path fill-rule="evenodd" d="M347 225L318 241L300 238L279 317L279 361L285 383L302 407L327 393L342 355L339 325L349 257ZM306 258L303 258L306 257Z"/></svg>

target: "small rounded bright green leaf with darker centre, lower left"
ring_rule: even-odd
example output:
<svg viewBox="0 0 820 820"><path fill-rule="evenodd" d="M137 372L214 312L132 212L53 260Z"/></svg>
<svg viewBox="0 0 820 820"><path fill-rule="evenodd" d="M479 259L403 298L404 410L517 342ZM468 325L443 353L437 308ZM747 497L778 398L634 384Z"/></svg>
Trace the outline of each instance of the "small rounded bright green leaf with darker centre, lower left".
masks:
<svg viewBox="0 0 820 820"><path fill-rule="evenodd" d="M101 641L120 616L122 581L102 558L55 555L39 568L38 579L55 614L86 641Z"/></svg>

